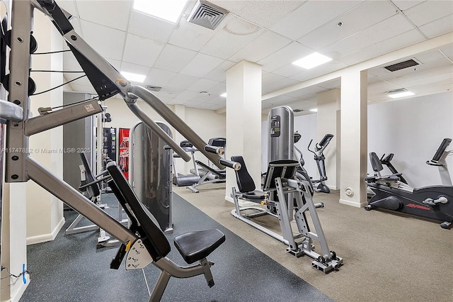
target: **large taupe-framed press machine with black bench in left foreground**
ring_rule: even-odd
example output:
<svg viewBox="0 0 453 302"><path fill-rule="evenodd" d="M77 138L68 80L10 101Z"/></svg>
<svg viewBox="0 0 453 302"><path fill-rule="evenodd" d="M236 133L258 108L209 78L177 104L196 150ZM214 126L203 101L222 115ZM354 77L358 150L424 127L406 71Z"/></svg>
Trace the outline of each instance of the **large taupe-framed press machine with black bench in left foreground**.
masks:
<svg viewBox="0 0 453 302"><path fill-rule="evenodd" d="M154 94L141 86L133 86L127 79L124 79L112 65L98 55L75 32L69 22L70 14L60 9L55 1L13 0L11 3L13 16L11 16L11 33L9 33L11 38L8 44L11 49L9 52L10 74L7 77L8 83L5 85L8 87L8 101L0 101L0 118L8 121L6 150L11 151L7 152L5 157L5 181L10 183L25 182L30 179L35 181L43 189L116 237L121 245L110 268L117 269L126 255L126 269L141 269L150 263L158 267L161 274L149 301L161 299L171 276L189 278L202 274L205 276L207 284L210 287L213 286L214 281L210 271L213 263L209 262L206 257L224 242L225 237L222 232L200 230L176 237L174 243L180 255L185 262L192 264L187 267L179 266L168 259L167 255L171 250L168 240L151 213L140 203L115 162L110 162L107 166L111 177L109 185L129 216L130 228L126 228L110 217L95 203L34 160L30 156L29 137L79 118L101 113L102 108L98 100L103 101L115 94L120 94L130 110L185 161L189 161L190 157L139 108L136 103L137 99L142 99L154 108L181 135L193 142L193 145L219 169L224 167L240 169L240 165L219 157L216 154L218 153L217 148L207 145ZM29 96L33 94L35 84L29 77L30 55L37 49L37 43L31 34L34 9L49 16L59 33L62 34L69 49L98 93L98 99L72 104L59 110L46 108L40 111L39 116L31 117ZM2 62L3 60L2 57ZM199 263L194 264L195 262Z"/></svg>

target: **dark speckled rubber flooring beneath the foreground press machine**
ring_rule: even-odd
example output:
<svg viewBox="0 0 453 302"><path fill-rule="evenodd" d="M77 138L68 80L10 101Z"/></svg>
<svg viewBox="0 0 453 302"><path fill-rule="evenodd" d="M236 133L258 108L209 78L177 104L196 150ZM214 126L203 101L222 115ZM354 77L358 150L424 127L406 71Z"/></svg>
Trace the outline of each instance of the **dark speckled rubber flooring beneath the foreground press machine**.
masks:
<svg viewBox="0 0 453 302"><path fill-rule="evenodd" d="M103 194L102 202L117 217L115 196ZM124 263L118 270L110 269L117 248L96 249L98 232L64 235L75 217L74 211L66 211L67 222L54 241L28 246L31 281L20 301L148 301L142 270L126 271ZM332 301L176 194L173 224L168 257L177 264L185 262L173 245L176 235L218 228L226 242L208 257L215 262L214 287L207 286L204 276L171 278L162 301ZM152 291L160 271L150 264L144 272Z"/></svg>

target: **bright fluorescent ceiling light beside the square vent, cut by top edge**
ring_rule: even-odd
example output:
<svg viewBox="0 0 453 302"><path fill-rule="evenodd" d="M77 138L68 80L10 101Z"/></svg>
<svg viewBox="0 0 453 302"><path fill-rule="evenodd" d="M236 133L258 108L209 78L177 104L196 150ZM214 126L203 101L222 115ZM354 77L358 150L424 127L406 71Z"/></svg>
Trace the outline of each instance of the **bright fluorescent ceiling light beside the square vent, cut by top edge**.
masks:
<svg viewBox="0 0 453 302"><path fill-rule="evenodd" d="M176 23L187 0L134 0L134 9Z"/></svg>

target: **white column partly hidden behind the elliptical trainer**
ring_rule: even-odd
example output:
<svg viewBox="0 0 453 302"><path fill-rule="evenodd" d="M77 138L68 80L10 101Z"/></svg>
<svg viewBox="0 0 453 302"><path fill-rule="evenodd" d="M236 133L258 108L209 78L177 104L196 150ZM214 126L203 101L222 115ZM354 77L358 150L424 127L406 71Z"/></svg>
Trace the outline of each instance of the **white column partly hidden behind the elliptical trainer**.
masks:
<svg viewBox="0 0 453 302"><path fill-rule="evenodd" d="M333 138L323 154L326 157L326 184L336 190L340 186L340 89L321 92L317 99L317 142L324 135L333 134ZM313 143L311 147L314 147Z"/></svg>

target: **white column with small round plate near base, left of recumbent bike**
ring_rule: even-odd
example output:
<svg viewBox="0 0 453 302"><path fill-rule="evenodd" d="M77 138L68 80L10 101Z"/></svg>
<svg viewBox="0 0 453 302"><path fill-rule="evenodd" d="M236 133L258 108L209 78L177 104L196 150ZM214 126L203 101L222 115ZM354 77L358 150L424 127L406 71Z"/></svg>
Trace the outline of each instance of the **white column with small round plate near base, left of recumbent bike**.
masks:
<svg viewBox="0 0 453 302"><path fill-rule="evenodd" d="M367 204L367 71L345 70L341 77L340 203Z"/></svg>

